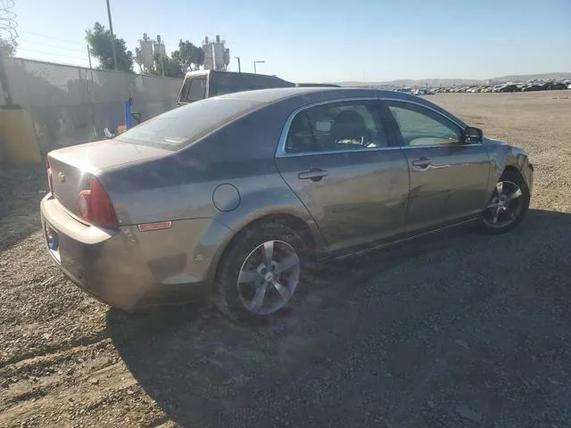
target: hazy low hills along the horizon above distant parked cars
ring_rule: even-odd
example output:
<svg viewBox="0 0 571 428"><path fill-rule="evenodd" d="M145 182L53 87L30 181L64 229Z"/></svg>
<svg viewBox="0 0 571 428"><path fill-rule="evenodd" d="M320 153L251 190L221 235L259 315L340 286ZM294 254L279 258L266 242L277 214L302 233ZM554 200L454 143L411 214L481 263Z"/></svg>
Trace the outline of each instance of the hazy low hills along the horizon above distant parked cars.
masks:
<svg viewBox="0 0 571 428"><path fill-rule="evenodd" d="M531 79L566 79L571 78L571 72L543 73L543 74L522 74L513 76L502 76L500 78L490 78L493 84L509 81L527 81ZM341 86L464 86L464 85L485 85L487 79L475 78L420 78L420 79L399 79L385 82L358 82L345 81L338 82Z"/></svg>

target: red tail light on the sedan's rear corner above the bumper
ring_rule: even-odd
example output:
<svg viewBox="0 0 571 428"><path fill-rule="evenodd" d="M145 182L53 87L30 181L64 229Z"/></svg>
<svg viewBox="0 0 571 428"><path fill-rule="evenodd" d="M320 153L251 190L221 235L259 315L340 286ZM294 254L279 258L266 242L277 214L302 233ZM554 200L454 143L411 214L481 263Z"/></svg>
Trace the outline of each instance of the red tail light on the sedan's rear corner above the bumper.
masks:
<svg viewBox="0 0 571 428"><path fill-rule="evenodd" d="M95 177L89 180L89 189L79 192L78 209L81 218L96 226L108 229L119 226L109 195Z"/></svg>

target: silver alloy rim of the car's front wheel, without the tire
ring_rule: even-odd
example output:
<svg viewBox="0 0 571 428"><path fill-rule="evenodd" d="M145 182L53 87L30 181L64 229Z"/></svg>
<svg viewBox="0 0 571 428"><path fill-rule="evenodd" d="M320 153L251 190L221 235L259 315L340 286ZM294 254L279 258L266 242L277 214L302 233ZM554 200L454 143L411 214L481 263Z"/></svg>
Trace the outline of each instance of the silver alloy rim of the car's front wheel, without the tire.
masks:
<svg viewBox="0 0 571 428"><path fill-rule="evenodd" d="M521 214L524 198L519 185L511 181L500 181L484 211L487 226L502 228L509 226Z"/></svg>

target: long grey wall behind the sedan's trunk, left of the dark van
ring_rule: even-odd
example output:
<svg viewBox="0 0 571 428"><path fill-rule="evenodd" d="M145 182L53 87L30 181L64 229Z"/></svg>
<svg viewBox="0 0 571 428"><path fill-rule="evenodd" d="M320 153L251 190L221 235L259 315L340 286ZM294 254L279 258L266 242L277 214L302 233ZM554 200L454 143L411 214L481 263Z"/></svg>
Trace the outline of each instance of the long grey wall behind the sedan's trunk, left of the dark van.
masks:
<svg viewBox="0 0 571 428"><path fill-rule="evenodd" d="M170 110L182 82L19 58L4 58L4 69L12 103L29 112L42 153L114 131L125 121L129 96L143 120Z"/></svg>

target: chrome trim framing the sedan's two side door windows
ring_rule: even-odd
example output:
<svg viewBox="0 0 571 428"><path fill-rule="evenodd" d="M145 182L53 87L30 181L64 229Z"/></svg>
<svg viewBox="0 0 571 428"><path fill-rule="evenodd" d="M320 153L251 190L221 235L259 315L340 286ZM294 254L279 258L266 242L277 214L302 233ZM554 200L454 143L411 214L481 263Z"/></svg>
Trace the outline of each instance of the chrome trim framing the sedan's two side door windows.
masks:
<svg viewBox="0 0 571 428"><path fill-rule="evenodd" d="M355 153L355 152L380 152L385 150L410 150L410 149L420 149L420 148L434 148L434 147L467 147L467 146L475 146L475 145L482 145L482 143L473 143L473 144L432 144L432 145L389 145L387 147L369 147L365 149L343 149L343 150L328 150L328 151L319 151L319 152L302 152L302 153L288 153L285 152L285 142L287 140L287 134L289 133L289 128L294 121L295 116L298 113L308 110L312 107L318 107L319 105L326 105L332 103L351 103L355 101L378 101L381 102L381 109L377 109L381 115L384 114L382 110L388 110L388 105L386 105L386 101L389 102L397 102L397 103L410 103L415 104L420 107L424 107L427 110L434 111L435 113L442 116L444 119L450 120L454 125L458 126L462 132L466 129L466 126L459 123L457 120L452 119L450 116L444 114L442 111L438 111L430 106L427 106L423 103L416 103L412 100L398 100L387 96L357 96L357 97L350 97L350 98L335 98L333 100L326 100L326 101L319 101L318 103L309 103L302 105L302 107L298 107L294 111L292 111L285 119L284 128L282 128L282 132L279 136L277 148L276 148L276 158L289 158L289 157L296 157L296 156L315 156L316 154L339 154L339 153ZM390 112L390 111L389 111ZM383 118L379 118L383 119ZM390 119L393 122L393 127L396 126L397 128L392 129L385 129L385 135L388 137L389 144L393 143L393 140L396 138L398 141L401 141L401 131L396 125L396 121L394 120L393 116L391 115ZM394 136L395 130L399 129L398 135Z"/></svg>

